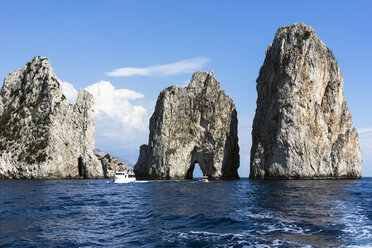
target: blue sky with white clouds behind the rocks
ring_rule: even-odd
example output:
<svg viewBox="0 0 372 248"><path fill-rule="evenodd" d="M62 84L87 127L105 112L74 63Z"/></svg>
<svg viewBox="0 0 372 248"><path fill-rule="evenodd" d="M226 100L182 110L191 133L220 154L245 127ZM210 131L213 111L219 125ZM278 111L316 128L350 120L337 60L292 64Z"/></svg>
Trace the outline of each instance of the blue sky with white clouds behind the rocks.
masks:
<svg viewBox="0 0 372 248"><path fill-rule="evenodd" d="M0 0L0 78L47 57L70 102L96 102L96 148L134 164L164 88L215 72L239 119L241 177L249 175L256 79L281 26L312 26L344 77L344 94L372 176L372 1Z"/></svg>

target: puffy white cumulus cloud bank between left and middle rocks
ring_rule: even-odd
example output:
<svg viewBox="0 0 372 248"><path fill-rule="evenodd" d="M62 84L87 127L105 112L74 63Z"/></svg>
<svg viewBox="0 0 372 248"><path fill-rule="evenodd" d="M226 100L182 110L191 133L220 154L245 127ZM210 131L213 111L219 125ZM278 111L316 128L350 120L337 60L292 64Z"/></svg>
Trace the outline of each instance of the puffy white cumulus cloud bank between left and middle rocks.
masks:
<svg viewBox="0 0 372 248"><path fill-rule="evenodd" d="M74 103L78 91L70 83L62 82L61 85L66 98ZM139 146L147 143L149 116L144 106L132 101L144 95L133 90L116 89L107 81L85 89L94 96L96 147L135 163ZM153 108L153 105L151 102L146 107Z"/></svg>

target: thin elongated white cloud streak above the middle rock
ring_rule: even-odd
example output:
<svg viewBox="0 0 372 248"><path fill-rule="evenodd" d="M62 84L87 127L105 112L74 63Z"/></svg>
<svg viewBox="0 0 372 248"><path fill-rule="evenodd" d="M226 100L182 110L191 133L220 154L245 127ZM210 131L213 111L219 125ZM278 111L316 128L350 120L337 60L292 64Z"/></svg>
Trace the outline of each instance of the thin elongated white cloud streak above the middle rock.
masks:
<svg viewBox="0 0 372 248"><path fill-rule="evenodd" d="M154 65L149 67L124 67L115 69L114 71L106 73L113 77L131 77L131 76L168 76L180 73L190 73L202 68L209 62L207 57L196 57L192 59L185 59L171 64Z"/></svg>

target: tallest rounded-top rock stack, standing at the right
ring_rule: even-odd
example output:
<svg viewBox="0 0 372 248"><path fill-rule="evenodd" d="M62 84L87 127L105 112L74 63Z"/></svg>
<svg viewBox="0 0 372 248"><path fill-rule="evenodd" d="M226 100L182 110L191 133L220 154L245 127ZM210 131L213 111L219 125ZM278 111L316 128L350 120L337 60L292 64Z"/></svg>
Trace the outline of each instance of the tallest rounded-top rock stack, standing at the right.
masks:
<svg viewBox="0 0 372 248"><path fill-rule="evenodd" d="M279 28L257 92L250 178L361 177L340 69L311 27Z"/></svg>

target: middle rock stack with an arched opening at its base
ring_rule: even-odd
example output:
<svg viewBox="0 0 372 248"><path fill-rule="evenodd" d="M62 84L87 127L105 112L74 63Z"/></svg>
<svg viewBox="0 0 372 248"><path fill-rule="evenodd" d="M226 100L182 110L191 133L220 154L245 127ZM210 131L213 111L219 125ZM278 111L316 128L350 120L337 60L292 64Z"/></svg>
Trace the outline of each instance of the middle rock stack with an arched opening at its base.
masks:
<svg viewBox="0 0 372 248"><path fill-rule="evenodd" d="M191 179L195 163L213 179L239 178L237 113L213 72L160 93L134 172L140 179Z"/></svg>

